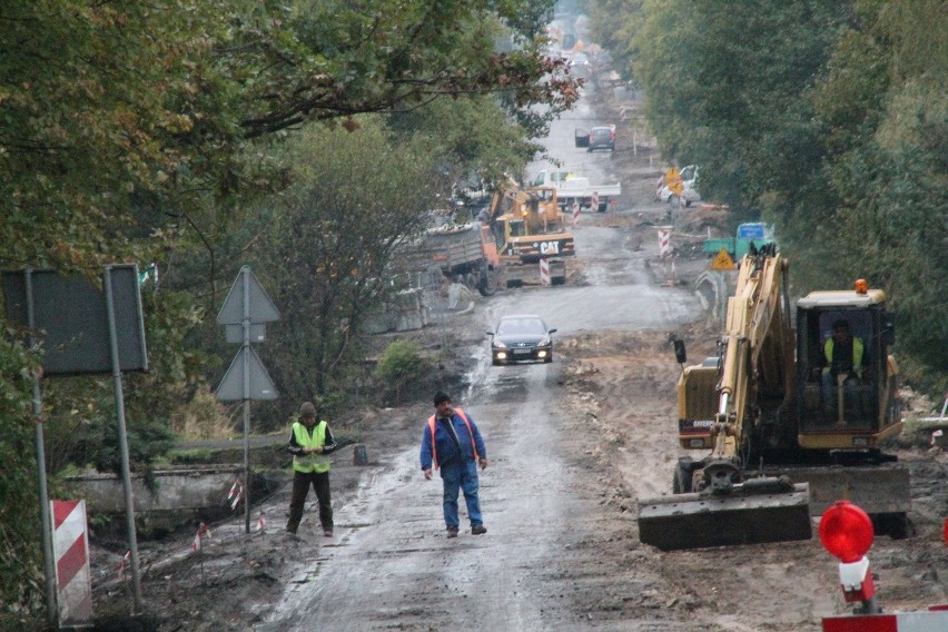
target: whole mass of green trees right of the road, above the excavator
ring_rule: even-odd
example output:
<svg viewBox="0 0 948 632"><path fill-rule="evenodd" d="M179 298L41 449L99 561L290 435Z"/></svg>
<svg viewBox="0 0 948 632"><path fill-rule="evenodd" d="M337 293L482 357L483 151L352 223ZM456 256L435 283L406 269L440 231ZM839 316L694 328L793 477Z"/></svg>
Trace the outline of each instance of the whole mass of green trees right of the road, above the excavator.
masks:
<svg viewBox="0 0 948 632"><path fill-rule="evenodd" d="M886 289L925 386L948 372L944 9L645 0L629 45L665 155L701 164L702 195L735 220L777 225L797 294Z"/></svg>

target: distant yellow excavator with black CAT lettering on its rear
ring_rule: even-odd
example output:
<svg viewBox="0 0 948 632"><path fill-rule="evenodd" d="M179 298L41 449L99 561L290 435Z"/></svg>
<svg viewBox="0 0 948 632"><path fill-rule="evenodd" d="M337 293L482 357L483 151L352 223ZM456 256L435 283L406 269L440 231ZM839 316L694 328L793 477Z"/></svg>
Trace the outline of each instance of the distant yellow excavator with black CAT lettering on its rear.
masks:
<svg viewBox="0 0 948 632"><path fill-rule="evenodd" d="M566 283L565 257L575 255L575 245L555 188L524 188L512 181L498 187L488 224L507 287L540 282L541 260L552 285Z"/></svg>

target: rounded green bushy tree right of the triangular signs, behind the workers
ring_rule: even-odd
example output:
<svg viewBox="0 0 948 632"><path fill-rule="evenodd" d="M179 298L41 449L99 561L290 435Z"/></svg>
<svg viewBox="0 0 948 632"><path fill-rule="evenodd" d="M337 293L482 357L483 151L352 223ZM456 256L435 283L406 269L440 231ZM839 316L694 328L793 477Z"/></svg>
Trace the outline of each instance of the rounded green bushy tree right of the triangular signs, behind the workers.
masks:
<svg viewBox="0 0 948 632"><path fill-rule="evenodd" d="M391 141L377 119L357 122L352 132L314 128L287 144L294 185L271 203L253 250L280 306L265 353L278 358L271 374L290 398L348 389L363 324L393 292L393 251L418 234L438 191L419 146Z"/></svg>

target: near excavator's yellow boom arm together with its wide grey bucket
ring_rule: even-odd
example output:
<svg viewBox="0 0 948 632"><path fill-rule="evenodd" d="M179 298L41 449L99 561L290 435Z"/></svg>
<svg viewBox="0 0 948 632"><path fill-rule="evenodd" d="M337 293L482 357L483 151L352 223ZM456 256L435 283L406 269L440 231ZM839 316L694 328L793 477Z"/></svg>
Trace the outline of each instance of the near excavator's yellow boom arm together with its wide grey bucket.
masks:
<svg viewBox="0 0 948 632"><path fill-rule="evenodd" d="M693 492L639 500L643 543L672 551L811 537L806 483L747 475L761 403L786 407L793 394L786 270L773 247L741 261L728 302L711 454L693 472Z"/></svg>

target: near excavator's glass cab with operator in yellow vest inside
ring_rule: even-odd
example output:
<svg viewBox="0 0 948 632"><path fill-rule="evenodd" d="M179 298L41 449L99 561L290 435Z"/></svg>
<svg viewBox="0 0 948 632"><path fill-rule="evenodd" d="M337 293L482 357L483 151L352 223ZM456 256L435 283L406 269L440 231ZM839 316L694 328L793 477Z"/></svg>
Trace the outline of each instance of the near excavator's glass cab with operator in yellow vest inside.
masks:
<svg viewBox="0 0 948 632"><path fill-rule="evenodd" d="M881 290L812 293L797 304L799 443L863 450L900 431L895 340Z"/></svg>

